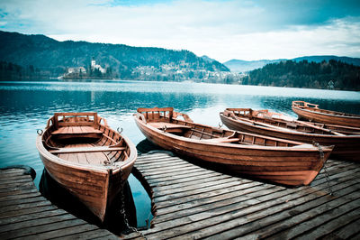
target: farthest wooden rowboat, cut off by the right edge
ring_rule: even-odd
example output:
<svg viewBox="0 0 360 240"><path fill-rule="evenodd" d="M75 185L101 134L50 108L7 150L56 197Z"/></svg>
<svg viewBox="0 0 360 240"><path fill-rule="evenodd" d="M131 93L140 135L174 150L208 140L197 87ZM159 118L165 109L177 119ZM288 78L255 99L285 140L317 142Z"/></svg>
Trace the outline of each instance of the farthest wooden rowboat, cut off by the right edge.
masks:
<svg viewBox="0 0 360 240"><path fill-rule="evenodd" d="M322 124L360 127L360 115L320 109L319 105L304 101L293 101L292 108L293 112L299 115L299 118Z"/></svg>

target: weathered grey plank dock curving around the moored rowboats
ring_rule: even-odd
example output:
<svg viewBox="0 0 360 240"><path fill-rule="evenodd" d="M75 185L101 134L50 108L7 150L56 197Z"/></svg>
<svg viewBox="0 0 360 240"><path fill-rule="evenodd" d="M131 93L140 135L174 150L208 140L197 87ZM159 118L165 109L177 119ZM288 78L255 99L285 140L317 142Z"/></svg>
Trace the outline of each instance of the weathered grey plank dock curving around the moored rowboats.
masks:
<svg viewBox="0 0 360 240"><path fill-rule="evenodd" d="M311 186L288 189L166 152L142 154L136 169L152 195L155 217L141 233L148 239L360 239L360 164L330 160L326 166L333 196L324 170ZM118 239L52 205L24 173L0 171L1 239Z"/></svg>

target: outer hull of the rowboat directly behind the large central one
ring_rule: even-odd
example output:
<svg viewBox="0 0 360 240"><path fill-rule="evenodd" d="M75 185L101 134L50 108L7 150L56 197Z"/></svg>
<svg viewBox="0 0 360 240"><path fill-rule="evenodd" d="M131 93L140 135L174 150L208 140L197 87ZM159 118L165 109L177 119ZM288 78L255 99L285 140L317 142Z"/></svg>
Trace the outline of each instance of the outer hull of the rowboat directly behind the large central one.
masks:
<svg viewBox="0 0 360 240"><path fill-rule="evenodd" d="M241 121L240 118L233 119L230 116L220 113L221 122L229 129L274 136L277 138L289 139L302 143L320 143L323 146L334 145L331 152L331 159L360 161L360 135L326 135L326 134L307 134L296 131L282 131L261 125L253 125L250 122Z"/></svg>

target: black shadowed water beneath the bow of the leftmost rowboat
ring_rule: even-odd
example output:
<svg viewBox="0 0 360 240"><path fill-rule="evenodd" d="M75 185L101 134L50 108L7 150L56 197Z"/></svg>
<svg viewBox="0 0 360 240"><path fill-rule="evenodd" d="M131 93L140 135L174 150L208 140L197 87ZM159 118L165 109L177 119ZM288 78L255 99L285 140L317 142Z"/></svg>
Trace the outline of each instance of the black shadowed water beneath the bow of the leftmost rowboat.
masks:
<svg viewBox="0 0 360 240"><path fill-rule="evenodd" d="M125 228L125 225L121 224L124 220L120 213L120 194L115 196L114 200L112 201L112 205L108 208L108 212L103 223L100 223L99 218L95 217L94 214L81 201L79 201L78 198L69 193L67 189L64 189L61 185L59 185L56 180L53 180L46 169L42 171L39 189L40 193L45 198L48 198L51 203L58 206L58 208L65 209L68 213L84 219L90 224L104 227L117 235L121 234L121 231ZM126 217L129 221L129 224L130 226L137 226L136 209L128 181L124 183L123 194L125 199L124 204L126 209Z"/></svg>

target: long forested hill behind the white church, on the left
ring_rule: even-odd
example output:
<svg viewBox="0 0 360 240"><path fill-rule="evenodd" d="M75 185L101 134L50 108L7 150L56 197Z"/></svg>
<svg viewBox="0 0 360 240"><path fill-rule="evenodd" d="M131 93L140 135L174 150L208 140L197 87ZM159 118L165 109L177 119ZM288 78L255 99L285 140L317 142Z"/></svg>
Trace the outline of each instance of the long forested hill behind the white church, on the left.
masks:
<svg viewBox="0 0 360 240"><path fill-rule="evenodd" d="M123 44L91 42L58 42L44 35L24 35L0 32L0 60L32 68L42 75L58 77L67 68L87 69L94 58L96 64L107 69L109 78L167 77L181 72L184 77L205 78L209 72L229 72L219 61L207 61L191 51L162 48L130 47ZM23 72L28 72L24 70ZM155 74L153 76L153 74ZM170 76L169 78L175 78Z"/></svg>

